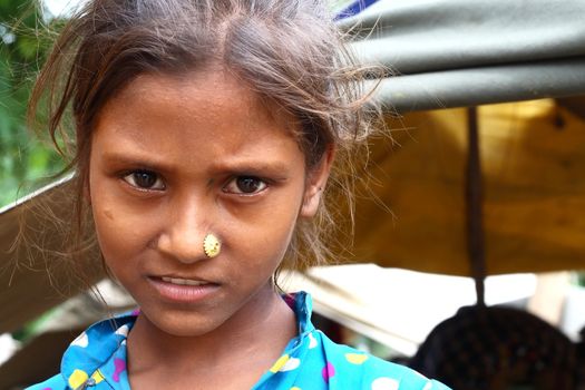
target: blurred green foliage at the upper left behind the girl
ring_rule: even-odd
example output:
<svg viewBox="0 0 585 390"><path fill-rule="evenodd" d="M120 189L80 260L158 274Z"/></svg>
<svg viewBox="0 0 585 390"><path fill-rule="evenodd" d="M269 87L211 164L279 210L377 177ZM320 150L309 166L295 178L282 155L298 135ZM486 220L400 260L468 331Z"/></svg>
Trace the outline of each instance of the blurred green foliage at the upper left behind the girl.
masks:
<svg viewBox="0 0 585 390"><path fill-rule="evenodd" d="M0 206L62 166L26 126L32 80L48 48L37 33L41 17L37 1L0 0Z"/></svg>

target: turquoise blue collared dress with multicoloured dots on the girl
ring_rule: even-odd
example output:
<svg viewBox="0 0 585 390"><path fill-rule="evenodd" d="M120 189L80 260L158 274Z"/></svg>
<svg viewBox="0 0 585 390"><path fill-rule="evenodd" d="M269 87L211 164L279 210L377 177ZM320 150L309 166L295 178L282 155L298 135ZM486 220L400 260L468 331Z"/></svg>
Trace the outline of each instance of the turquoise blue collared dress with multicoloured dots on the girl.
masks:
<svg viewBox="0 0 585 390"><path fill-rule="evenodd" d="M406 367L332 342L311 323L304 292L286 295L299 335L293 338L254 390L448 390ZM61 372L32 390L129 390L126 338L139 312L91 325L66 350Z"/></svg>

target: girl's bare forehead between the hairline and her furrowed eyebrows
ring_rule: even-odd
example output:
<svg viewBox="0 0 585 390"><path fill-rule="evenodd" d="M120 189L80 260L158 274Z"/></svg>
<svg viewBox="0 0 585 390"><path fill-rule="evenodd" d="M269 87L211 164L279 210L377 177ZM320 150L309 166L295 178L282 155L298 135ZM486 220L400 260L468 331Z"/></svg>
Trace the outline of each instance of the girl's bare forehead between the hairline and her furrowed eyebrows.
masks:
<svg viewBox="0 0 585 390"><path fill-rule="evenodd" d="M244 82L226 72L187 76L143 75L104 107L96 137L107 148L158 150L188 157L202 153L241 154L253 144L274 147L284 139L299 148L294 118L266 105ZM107 134L109 142L104 144Z"/></svg>

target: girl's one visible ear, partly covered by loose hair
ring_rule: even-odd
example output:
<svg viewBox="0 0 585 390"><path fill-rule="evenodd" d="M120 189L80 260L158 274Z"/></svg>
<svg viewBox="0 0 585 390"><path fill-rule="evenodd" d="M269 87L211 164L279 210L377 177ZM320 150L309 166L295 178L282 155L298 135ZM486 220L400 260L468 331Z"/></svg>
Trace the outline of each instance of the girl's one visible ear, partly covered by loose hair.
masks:
<svg viewBox="0 0 585 390"><path fill-rule="evenodd" d="M335 150L329 147L321 158L321 162L308 173L303 205L300 214L301 217L311 218L316 214L321 195L323 194L329 173L331 172L334 155Z"/></svg>

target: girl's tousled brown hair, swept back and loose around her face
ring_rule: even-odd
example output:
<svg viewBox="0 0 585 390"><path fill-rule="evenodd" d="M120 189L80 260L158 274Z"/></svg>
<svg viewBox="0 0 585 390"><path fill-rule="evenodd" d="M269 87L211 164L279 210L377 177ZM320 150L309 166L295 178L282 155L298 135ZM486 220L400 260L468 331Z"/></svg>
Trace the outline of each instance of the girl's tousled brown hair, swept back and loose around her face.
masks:
<svg viewBox="0 0 585 390"><path fill-rule="evenodd" d="M339 237L332 233L343 232L339 220L349 215L352 226L352 162L371 130L361 81L372 69L355 66L318 0L94 0L71 18L40 72L29 118L47 116L53 144L76 173L72 253L79 254L91 133L104 105L140 74L217 62L298 118L309 168L335 148L320 212L300 223L284 265L331 260L331 237ZM75 134L64 124L69 117Z"/></svg>

